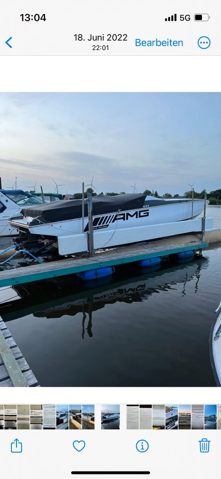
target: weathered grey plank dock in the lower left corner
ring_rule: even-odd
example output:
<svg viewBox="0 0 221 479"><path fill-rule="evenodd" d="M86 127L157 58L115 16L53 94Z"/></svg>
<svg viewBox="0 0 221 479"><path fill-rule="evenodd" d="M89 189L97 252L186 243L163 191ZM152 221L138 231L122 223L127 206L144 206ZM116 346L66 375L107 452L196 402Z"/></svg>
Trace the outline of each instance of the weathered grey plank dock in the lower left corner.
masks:
<svg viewBox="0 0 221 479"><path fill-rule="evenodd" d="M37 379L0 317L0 387L34 386Z"/></svg>

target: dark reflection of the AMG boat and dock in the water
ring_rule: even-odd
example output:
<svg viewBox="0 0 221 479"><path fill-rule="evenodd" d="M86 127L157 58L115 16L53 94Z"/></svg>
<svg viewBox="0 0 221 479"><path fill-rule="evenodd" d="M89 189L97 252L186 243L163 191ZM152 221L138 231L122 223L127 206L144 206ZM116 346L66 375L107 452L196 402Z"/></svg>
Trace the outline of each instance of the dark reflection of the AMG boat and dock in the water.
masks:
<svg viewBox="0 0 221 479"><path fill-rule="evenodd" d="M85 329L92 338L92 313L107 304L116 302L133 303L146 301L159 291L174 289L176 284L183 284L182 294L186 295L188 281L196 278L195 292L198 290L200 271L207 258L200 261L182 263L173 268L157 271L159 266L143 268L139 276L128 275L117 279L102 278L95 281L79 282L73 276L66 279L38 281L36 283L17 284L12 288L18 299L0 305L0 314L4 321L10 321L32 313L34 317L47 319L61 318L64 315L75 316L82 313L81 336L84 339ZM75 291L73 293L73 290Z"/></svg>

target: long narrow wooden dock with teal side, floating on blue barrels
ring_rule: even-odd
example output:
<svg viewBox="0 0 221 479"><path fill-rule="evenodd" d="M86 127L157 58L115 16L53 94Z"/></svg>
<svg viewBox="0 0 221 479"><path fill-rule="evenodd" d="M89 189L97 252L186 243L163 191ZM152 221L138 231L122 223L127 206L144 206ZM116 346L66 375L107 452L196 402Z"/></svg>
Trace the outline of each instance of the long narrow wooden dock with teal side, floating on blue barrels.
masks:
<svg viewBox="0 0 221 479"><path fill-rule="evenodd" d="M188 250L201 250L208 247L209 243L195 239L185 241L184 237L172 238L154 243L144 243L134 246L120 247L96 253L93 257L80 257L61 259L43 264L33 264L6 271L0 271L0 287L13 286L28 282L40 281L74 274L105 266L128 264L141 259L166 256Z"/></svg>

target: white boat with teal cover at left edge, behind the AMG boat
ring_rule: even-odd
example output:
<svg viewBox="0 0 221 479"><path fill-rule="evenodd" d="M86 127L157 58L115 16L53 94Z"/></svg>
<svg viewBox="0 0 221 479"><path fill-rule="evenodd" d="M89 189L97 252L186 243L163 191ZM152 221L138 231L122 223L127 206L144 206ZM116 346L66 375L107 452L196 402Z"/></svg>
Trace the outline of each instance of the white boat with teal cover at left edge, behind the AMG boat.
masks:
<svg viewBox="0 0 221 479"><path fill-rule="evenodd" d="M13 236L18 235L17 230L9 225L9 218L20 213L23 207L41 204L41 198L22 190L0 190L0 237L9 237L12 230Z"/></svg>

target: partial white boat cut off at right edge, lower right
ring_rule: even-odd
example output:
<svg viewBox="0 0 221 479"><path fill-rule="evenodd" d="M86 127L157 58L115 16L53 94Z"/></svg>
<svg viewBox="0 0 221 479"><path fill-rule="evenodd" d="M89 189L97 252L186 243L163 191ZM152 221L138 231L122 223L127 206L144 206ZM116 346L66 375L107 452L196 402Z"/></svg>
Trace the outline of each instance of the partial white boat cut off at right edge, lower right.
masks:
<svg viewBox="0 0 221 479"><path fill-rule="evenodd" d="M214 313L221 310L221 302ZM218 386L221 386L221 312L218 314L210 337L210 353L214 378Z"/></svg>

